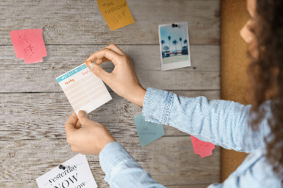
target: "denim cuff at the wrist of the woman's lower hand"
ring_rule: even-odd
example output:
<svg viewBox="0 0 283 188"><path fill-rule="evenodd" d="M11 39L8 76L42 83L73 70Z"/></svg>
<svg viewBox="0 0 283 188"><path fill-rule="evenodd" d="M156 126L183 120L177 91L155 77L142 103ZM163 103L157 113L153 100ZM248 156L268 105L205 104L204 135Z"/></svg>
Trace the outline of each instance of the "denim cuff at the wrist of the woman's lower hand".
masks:
<svg viewBox="0 0 283 188"><path fill-rule="evenodd" d="M105 182L109 184L112 170L117 165L125 163L127 160L134 160L134 158L127 152L124 146L116 141L108 143L99 153L100 166L105 172Z"/></svg>

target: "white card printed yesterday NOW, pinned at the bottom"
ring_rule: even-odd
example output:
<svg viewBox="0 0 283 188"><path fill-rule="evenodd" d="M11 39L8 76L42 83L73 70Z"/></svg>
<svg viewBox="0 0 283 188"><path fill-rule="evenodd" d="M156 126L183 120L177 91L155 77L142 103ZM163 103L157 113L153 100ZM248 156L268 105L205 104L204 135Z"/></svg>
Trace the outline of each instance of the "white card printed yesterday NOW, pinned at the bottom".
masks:
<svg viewBox="0 0 283 188"><path fill-rule="evenodd" d="M65 170L59 166L53 168L44 175L36 179L39 188L81 188L98 187L93 178L91 169L86 160L86 155L76 155L67 160L64 165Z"/></svg>

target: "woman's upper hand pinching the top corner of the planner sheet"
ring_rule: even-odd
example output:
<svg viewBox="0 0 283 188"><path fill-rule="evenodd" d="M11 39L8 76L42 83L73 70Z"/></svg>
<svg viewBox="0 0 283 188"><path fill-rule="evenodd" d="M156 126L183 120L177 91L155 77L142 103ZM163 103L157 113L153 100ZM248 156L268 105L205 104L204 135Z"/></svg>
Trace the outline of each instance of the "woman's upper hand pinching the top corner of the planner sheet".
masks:
<svg viewBox="0 0 283 188"><path fill-rule="evenodd" d="M96 63L93 63L96 61ZM111 73L104 71L99 65L111 61L115 68ZM86 59L86 66L93 74L103 80L117 95L129 100L135 105L143 106L146 90L139 83L134 71L132 59L114 44L94 52Z"/></svg>

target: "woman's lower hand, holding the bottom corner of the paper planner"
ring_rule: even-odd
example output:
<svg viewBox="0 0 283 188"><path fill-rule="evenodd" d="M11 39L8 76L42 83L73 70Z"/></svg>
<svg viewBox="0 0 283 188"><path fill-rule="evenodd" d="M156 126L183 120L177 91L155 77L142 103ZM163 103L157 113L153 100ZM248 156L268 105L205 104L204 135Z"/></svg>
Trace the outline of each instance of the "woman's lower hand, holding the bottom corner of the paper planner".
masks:
<svg viewBox="0 0 283 188"><path fill-rule="evenodd" d="M82 128L81 128L82 126ZM99 155L108 143L116 141L103 124L93 122L86 117L86 112L74 112L65 125L67 142L71 150L83 155Z"/></svg>

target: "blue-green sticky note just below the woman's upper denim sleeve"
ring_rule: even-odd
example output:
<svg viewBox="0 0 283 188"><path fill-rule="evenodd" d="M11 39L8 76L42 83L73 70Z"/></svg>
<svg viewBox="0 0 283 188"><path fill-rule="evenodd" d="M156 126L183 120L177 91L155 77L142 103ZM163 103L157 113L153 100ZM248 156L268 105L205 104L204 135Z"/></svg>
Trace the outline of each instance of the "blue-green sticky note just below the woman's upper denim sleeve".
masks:
<svg viewBox="0 0 283 188"><path fill-rule="evenodd" d="M134 122L137 127L137 134L139 135L141 147L144 147L152 141L159 139L165 134L163 124L146 122L142 114L134 117Z"/></svg>

